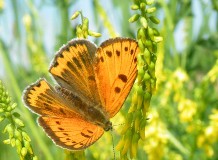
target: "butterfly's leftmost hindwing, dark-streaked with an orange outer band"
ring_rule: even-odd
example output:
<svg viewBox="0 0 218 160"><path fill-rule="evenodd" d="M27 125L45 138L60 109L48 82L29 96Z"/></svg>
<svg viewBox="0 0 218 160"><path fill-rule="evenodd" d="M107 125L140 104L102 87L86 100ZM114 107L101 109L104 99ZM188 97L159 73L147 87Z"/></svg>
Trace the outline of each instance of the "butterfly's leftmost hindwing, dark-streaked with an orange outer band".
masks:
<svg viewBox="0 0 218 160"><path fill-rule="evenodd" d="M45 79L39 79L24 92L25 104L40 115L72 117L76 112L70 109L66 100L60 96Z"/></svg>

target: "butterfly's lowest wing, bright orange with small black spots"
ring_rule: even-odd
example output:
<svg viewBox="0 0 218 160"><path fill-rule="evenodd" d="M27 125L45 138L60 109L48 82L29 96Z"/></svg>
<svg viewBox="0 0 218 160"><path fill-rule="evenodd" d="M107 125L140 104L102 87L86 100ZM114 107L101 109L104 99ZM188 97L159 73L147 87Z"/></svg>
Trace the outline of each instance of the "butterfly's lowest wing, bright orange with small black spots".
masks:
<svg viewBox="0 0 218 160"><path fill-rule="evenodd" d="M38 122L57 145L71 150L87 148L104 133L101 127L85 121L80 116L40 117Z"/></svg>

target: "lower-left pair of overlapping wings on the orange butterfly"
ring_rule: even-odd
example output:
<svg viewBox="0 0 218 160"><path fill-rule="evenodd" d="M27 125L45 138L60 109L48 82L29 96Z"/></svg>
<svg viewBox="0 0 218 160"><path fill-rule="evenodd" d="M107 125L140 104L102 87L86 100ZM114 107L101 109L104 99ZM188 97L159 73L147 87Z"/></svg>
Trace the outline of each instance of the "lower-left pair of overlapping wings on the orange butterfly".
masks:
<svg viewBox="0 0 218 160"><path fill-rule="evenodd" d="M59 95L45 79L24 92L25 104L40 115L38 122L53 141L64 148L84 149L97 141L104 130L80 116L70 101Z"/></svg>

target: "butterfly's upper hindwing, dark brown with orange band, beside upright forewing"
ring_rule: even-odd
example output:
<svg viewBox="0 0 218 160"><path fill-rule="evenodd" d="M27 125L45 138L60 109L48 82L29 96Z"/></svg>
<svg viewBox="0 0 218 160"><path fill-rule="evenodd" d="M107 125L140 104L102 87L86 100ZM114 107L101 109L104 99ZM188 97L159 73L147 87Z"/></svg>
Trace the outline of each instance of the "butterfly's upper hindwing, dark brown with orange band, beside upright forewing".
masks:
<svg viewBox="0 0 218 160"><path fill-rule="evenodd" d="M49 71L61 87L99 104L93 68L95 52L95 44L84 39L72 40L58 51Z"/></svg>

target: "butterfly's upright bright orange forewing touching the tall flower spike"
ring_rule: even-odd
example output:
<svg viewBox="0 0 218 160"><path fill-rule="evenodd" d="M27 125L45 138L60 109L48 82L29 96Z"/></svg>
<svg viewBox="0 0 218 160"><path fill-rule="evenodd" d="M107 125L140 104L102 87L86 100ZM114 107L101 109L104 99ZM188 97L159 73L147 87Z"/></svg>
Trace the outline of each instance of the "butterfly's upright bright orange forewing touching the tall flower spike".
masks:
<svg viewBox="0 0 218 160"><path fill-rule="evenodd" d="M122 107L137 76L138 44L129 38L103 42L97 49L95 76L101 101L113 117Z"/></svg>

